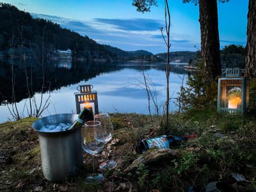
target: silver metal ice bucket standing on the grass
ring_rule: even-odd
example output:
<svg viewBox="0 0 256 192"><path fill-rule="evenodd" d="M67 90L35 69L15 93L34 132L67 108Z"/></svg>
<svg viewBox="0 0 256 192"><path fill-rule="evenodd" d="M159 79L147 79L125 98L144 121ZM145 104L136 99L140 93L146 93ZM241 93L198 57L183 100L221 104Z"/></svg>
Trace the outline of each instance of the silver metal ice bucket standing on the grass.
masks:
<svg viewBox="0 0 256 192"><path fill-rule="evenodd" d="M41 132L46 124L73 123L77 114L57 114L33 123L41 153L42 173L49 181L63 181L67 174L77 176L82 167L81 126L61 132Z"/></svg>

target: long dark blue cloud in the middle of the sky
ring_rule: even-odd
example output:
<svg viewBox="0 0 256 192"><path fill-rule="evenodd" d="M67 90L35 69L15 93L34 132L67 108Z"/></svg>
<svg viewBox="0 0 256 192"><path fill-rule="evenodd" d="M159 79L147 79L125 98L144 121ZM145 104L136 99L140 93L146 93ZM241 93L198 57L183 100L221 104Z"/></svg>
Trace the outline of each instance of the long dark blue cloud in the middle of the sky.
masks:
<svg viewBox="0 0 256 192"><path fill-rule="evenodd" d="M164 25L162 20L144 19L144 18L133 18L133 19L95 18L94 20L98 23L112 25L116 29L125 30L125 31L154 31L154 30L159 30L159 28Z"/></svg>

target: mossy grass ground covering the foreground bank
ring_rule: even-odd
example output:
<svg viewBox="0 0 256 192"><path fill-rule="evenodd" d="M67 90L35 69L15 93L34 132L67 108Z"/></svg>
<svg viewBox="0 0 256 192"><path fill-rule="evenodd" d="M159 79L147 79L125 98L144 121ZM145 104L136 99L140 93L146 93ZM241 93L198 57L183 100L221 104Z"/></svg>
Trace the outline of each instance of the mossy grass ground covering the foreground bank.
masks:
<svg viewBox="0 0 256 192"><path fill-rule="evenodd" d="M5 162L0 163L0 191L186 191L188 186L200 188L218 180L238 191L252 191L256 187L255 115L221 115L215 106L171 114L172 123L166 134L195 133L198 137L175 148L177 157L140 164L129 173L124 169L139 156L138 142L152 128L155 130L152 137L163 134L160 117L154 116L152 122L147 115L116 113L111 118L115 129L113 139L117 140L111 145L110 158L118 162L118 167L103 173L102 185L84 182L86 173L92 171L92 157L85 153L79 177L67 177L64 183L48 182L42 176L37 135L31 128L35 119L0 124L0 156L5 157ZM248 182L236 182L232 172L242 174Z"/></svg>

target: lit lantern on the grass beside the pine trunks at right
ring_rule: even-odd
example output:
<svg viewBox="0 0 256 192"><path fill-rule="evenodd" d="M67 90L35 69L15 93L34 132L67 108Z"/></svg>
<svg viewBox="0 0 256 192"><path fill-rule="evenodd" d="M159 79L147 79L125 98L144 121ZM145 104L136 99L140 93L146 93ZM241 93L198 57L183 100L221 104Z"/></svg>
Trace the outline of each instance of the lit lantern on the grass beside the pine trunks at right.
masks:
<svg viewBox="0 0 256 192"><path fill-rule="evenodd" d="M249 81L240 68L227 68L218 82L218 112L245 114L249 104Z"/></svg>

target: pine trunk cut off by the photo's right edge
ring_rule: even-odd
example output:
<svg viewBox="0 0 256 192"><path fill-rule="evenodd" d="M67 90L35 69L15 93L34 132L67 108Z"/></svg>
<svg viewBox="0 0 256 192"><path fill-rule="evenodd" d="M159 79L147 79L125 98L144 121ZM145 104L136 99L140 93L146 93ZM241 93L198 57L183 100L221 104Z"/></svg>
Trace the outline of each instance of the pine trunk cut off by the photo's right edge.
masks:
<svg viewBox="0 0 256 192"><path fill-rule="evenodd" d="M247 44L245 57L246 76L256 76L256 1L249 0Z"/></svg>

